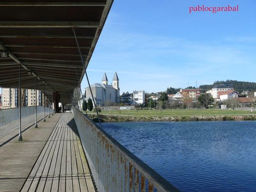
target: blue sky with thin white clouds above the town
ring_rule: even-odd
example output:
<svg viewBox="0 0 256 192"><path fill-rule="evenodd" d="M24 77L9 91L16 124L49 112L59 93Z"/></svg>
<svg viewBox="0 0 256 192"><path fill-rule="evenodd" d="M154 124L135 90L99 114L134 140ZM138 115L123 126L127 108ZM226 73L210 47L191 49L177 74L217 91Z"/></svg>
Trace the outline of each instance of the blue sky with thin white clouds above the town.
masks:
<svg viewBox="0 0 256 192"><path fill-rule="evenodd" d="M239 11L190 14L198 4ZM91 84L117 71L121 94L256 82L256 0L114 0L87 71Z"/></svg>

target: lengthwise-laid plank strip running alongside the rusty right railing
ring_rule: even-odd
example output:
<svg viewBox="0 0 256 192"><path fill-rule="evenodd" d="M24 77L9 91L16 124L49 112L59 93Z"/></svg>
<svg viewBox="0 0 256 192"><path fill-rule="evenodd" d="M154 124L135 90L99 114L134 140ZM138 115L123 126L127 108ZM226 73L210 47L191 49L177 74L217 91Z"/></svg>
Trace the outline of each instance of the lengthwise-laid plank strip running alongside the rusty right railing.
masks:
<svg viewBox="0 0 256 192"><path fill-rule="evenodd" d="M72 113L57 123L22 192L95 192Z"/></svg>

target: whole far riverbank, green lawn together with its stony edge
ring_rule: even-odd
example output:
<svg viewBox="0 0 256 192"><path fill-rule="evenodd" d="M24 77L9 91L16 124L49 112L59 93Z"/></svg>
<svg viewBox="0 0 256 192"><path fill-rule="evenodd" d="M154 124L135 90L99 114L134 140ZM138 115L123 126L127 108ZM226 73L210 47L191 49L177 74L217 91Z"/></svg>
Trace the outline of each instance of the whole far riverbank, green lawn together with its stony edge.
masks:
<svg viewBox="0 0 256 192"><path fill-rule="evenodd" d="M89 117L97 121L96 113ZM256 120L256 112L242 110L192 109L192 110L138 110L102 111L102 122L150 122L150 121L246 121Z"/></svg>

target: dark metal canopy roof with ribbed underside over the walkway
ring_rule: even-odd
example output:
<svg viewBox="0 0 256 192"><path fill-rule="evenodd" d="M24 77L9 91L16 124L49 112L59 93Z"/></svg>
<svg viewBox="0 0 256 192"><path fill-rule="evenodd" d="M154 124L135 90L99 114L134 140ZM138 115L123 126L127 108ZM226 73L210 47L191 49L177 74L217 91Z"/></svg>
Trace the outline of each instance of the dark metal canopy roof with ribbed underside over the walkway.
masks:
<svg viewBox="0 0 256 192"><path fill-rule="evenodd" d="M1 0L0 50L9 57L0 57L0 87L19 87L21 65L22 88L34 89L37 78L38 90L46 84L69 103L85 73L72 29L87 67L112 2Z"/></svg>

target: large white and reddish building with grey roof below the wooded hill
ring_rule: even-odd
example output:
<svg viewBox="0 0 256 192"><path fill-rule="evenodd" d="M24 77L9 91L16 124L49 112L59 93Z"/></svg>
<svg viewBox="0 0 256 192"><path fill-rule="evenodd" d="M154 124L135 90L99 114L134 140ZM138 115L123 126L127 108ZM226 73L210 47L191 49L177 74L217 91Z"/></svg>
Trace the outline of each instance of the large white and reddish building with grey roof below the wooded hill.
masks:
<svg viewBox="0 0 256 192"><path fill-rule="evenodd" d="M212 90L207 91L206 93L211 94L213 98L220 98L221 95L228 95L234 92L233 85L215 85Z"/></svg>

